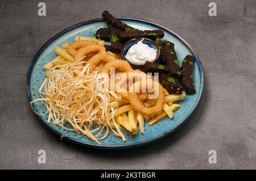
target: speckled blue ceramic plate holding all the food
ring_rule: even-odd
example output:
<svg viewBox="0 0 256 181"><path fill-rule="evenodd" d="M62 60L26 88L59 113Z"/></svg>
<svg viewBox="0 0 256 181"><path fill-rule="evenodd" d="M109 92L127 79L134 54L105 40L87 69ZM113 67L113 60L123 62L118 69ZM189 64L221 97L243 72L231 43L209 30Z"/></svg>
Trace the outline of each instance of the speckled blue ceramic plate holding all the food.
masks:
<svg viewBox="0 0 256 181"><path fill-rule="evenodd" d="M203 69L200 63L199 58L196 56L196 53L193 51L191 46L183 40L179 35L159 26L158 24L147 22L146 20L135 19L135 18L119 18L123 22L129 24L134 28L138 28L141 30L154 30L160 29L164 31L164 39L171 41L175 44L175 50L177 53L177 58L179 60L179 65L181 66L181 60L187 55L190 54L196 58L196 64L193 66L193 79L196 83L196 94L187 95L185 99L179 102L181 108L175 111L174 118L169 119L166 117L162 121L149 126L145 123L145 134L143 135L138 131L138 134L132 136L128 132L124 132L126 137L126 142L123 142L121 138L118 138L113 133L110 133L109 136L102 140L99 144L87 138L86 136L79 136L76 132L64 131L62 132L61 127L57 125L53 125L51 123L47 123L48 113L45 105L42 102L36 102L33 104L33 108L38 113L46 113L42 116L39 116L40 121L44 125L46 125L51 131L55 132L59 136L64 134L64 138L69 141L75 142L77 144L92 146L95 148L104 148L104 149L123 149L123 148L131 148L135 146L141 146L144 144L148 144L150 142L159 140L164 136L174 132L181 124L183 124L191 115L191 113L195 110L199 100L201 98L201 94L203 91L204 85L204 77L203 77ZM107 27L106 22L102 19L94 19L89 20L87 22L83 22L80 24L76 24L66 30L58 33L56 36L52 37L43 47L36 53L30 68L27 73L27 94L29 101L39 98L39 94L35 89L36 87L40 87L44 79L46 78L46 72L43 70L43 65L47 62L53 60L56 57L55 47L61 46L63 43L71 43L75 40L75 36L88 36L92 37L93 33L95 33L98 28Z"/></svg>

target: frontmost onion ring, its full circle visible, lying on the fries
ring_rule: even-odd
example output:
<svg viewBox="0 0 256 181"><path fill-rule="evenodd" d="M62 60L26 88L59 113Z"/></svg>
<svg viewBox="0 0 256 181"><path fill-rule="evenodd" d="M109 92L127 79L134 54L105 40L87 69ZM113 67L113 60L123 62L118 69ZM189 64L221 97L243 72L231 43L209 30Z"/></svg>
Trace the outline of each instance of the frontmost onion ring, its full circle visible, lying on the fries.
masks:
<svg viewBox="0 0 256 181"><path fill-rule="evenodd" d="M141 100L138 98L138 93L136 92L137 90L141 91L143 89L147 89L148 82L152 83L152 88L155 87L155 85L158 85L159 89L156 90L158 91L158 98L156 98L156 103L152 107L146 107ZM135 92L131 92L130 90L135 90ZM129 101L131 107L135 111L141 112L142 114L145 115L156 115L157 113L162 112L163 110L163 104L164 104L164 89L163 87L158 83L154 82L153 80L148 80L147 83L142 83L141 80L134 82L133 85L129 89Z"/></svg>

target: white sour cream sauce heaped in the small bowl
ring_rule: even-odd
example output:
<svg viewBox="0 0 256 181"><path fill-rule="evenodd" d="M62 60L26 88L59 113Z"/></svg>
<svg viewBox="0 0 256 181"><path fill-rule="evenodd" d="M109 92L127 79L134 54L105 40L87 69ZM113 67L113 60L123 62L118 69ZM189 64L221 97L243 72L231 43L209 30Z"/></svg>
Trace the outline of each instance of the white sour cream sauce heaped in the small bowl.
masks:
<svg viewBox="0 0 256 181"><path fill-rule="evenodd" d="M157 56L154 48L148 47L147 44L142 43L143 39L137 44L131 46L125 55L125 58L135 64L145 64L146 61L153 61Z"/></svg>

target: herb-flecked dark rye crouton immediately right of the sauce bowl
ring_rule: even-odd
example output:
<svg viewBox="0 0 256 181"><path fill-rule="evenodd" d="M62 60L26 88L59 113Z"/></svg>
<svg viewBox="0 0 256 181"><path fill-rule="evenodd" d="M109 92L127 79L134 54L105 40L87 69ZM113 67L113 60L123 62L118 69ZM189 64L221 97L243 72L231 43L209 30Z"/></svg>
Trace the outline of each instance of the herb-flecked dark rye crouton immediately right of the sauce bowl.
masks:
<svg viewBox="0 0 256 181"><path fill-rule="evenodd" d="M174 44L170 41L164 41L162 43L162 64L167 65L169 73L174 77L180 77L181 71L179 67L179 61L177 60Z"/></svg>

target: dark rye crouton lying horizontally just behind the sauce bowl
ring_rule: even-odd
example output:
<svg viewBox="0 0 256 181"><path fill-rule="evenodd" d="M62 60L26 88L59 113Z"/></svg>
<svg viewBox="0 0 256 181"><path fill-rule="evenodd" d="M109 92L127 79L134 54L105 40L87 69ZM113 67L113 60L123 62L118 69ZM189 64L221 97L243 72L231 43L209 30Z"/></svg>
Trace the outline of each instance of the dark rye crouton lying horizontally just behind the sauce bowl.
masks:
<svg viewBox="0 0 256 181"><path fill-rule="evenodd" d="M119 39L121 42L125 42L130 39L134 39L137 37L144 37L151 40L159 40L164 37L164 32L162 30L134 30L134 31L120 31L119 32Z"/></svg>

